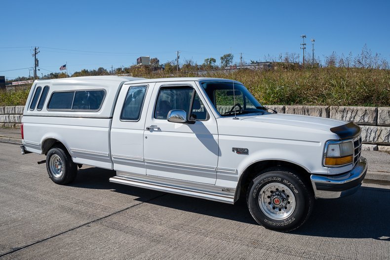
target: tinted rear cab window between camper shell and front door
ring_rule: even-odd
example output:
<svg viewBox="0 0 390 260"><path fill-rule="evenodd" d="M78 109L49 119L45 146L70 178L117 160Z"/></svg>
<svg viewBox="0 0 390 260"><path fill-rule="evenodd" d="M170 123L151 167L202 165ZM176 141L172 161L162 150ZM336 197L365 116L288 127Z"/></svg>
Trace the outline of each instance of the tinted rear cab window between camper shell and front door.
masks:
<svg viewBox="0 0 390 260"><path fill-rule="evenodd" d="M140 119L142 105L144 104L146 86L130 87L120 113L120 120Z"/></svg>

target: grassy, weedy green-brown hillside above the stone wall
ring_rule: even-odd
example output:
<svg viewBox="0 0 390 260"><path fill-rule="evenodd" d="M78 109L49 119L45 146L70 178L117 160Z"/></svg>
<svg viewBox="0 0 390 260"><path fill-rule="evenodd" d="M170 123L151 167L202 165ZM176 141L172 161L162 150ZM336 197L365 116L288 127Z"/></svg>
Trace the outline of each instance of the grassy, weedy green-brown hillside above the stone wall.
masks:
<svg viewBox="0 0 390 260"><path fill-rule="evenodd" d="M168 74L137 67L132 76L157 78L197 76L196 72ZM390 70L312 68L210 72L202 77L242 82L265 105L390 106ZM24 105L28 91L0 92L0 106Z"/></svg>

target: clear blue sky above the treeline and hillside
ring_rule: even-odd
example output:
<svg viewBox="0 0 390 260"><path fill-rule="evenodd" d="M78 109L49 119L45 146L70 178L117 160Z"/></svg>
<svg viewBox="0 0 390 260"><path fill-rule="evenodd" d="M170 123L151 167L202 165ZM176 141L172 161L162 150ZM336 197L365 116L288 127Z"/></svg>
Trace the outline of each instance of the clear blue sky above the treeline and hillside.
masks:
<svg viewBox="0 0 390 260"><path fill-rule="evenodd" d="M7 78L29 75L24 68L33 67L33 46L40 47L39 75L59 72L66 62L70 74L127 67L139 56L164 63L177 50L181 62L198 64L208 57L219 63L231 50L235 61L241 52L248 62L286 52L302 58L302 34L308 54L315 38L321 59L333 51L356 55L367 44L390 60L388 0L13 0L0 9L0 75Z"/></svg>

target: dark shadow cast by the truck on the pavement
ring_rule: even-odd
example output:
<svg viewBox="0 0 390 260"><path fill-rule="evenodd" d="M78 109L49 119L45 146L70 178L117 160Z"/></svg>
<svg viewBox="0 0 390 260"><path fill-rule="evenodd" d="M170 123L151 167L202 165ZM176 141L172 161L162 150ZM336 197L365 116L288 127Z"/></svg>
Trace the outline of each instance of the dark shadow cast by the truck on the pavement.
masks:
<svg viewBox="0 0 390 260"><path fill-rule="evenodd" d="M241 198L234 205L204 199L166 193L156 199L147 201L146 189L110 183L108 179L115 176L115 171L100 168L82 168L73 187L111 189L114 192L138 197L136 200L168 207L176 210L197 213L205 216L257 225ZM156 195L164 194L155 192ZM150 196L148 196L150 197ZM348 197L340 199L316 200L312 216L293 234L338 237L338 238L372 238L390 241L390 189L360 187Z"/></svg>

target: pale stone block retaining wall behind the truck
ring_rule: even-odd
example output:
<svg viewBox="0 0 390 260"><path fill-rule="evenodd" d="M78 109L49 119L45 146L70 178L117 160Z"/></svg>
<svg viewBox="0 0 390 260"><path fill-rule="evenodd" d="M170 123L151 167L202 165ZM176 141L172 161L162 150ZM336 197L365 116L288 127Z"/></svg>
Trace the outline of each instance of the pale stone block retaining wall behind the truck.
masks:
<svg viewBox="0 0 390 260"><path fill-rule="evenodd" d="M301 114L354 121L362 129L365 149L389 149L390 108L336 106L267 106L278 113ZM221 109L225 109L220 107ZM228 110L231 107L227 107ZM0 127L20 128L24 106L0 107Z"/></svg>

